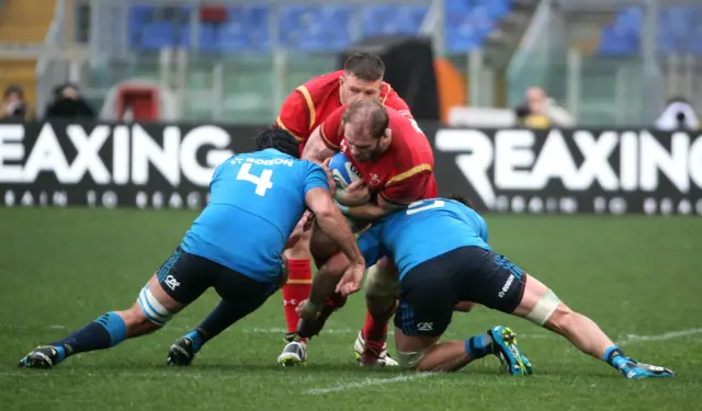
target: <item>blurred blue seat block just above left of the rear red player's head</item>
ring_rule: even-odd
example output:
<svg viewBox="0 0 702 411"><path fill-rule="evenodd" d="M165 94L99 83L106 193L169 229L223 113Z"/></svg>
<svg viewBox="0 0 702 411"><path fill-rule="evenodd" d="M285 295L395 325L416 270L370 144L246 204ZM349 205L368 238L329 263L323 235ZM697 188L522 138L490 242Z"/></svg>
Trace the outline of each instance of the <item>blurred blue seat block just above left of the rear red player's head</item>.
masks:
<svg viewBox="0 0 702 411"><path fill-rule="evenodd" d="M330 52L352 44L352 9L346 5L285 5L280 9L280 43L306 52Z"/></svg>

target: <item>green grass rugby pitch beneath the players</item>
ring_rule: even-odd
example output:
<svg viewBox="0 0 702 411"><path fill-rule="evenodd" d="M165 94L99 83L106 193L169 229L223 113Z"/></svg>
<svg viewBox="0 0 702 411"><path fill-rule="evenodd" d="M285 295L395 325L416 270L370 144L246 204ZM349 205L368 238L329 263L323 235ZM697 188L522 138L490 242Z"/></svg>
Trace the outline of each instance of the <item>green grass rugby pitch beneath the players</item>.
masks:
<svg viewBox="0 0 702 411"><path fill-rule="evenodd" d="M214 292L163 330L56 369L19 369L38 344L131 306L195 217L188 212L0 209L2 410L695 410L702 393L702 219L496 216L492 247L548 284L625 352L678 373L625 380L565 340L479 308L456 313L446 338L506 324L535 366L499 374L489 357L456 374L417 377L356 366L363 297L309 344L309 364L280 368L280 293L210 342L192 367L166 366L169 345L217 302ZM390 341L390 352L394 351Z"/></svg>

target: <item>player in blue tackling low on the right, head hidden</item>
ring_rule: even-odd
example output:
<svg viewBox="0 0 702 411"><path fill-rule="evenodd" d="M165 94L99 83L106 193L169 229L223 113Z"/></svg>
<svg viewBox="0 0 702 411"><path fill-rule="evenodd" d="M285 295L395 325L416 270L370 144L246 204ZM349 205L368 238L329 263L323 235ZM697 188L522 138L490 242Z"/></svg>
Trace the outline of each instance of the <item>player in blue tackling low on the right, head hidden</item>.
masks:
<svg viewBox="0 0 702 411"><path fill-rule="evenodd" d="M465 341L438 343L461 301L473 301L525 318L565 336L581 352L620 370L626 378L673 377L667 368L638 363L589 318L573 311L535 277L507 258L496 254L487 242L483 217L465 201L435 198L415 202L387 216L359 238L366 263L380 256L395 261L399 307L395 315L395 343L400 365L416 370L455 370L476 358L495 353L514 375L531 374L518 351L503 350L505 328L498 327ZM327 265L317 276L343 274L343 265ZM363 275L347 273L337 285L342 294L359 289ZM315 278L315 281L317 281ZM301 316L315 323L320 310L315 284L312 304ZM395 299L395 295L389 297ZM314 327L303 335L318 332ZM502 332L498 332L502 331ZM513 339L513 333L508 333ZM497 351L497 352L496 352Z"/></svg>

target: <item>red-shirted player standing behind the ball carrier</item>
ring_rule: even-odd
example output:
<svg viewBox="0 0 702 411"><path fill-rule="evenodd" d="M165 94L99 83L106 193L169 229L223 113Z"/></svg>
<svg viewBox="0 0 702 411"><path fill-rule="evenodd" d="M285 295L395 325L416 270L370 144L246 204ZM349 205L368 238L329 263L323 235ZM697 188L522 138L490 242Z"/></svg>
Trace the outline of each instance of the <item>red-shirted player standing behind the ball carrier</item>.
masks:
<svg viewBox="0 0 702 411"><path fill-rule="evenodd" d="M384 72L385 65L380 57L369 53L354 54L346 60L343 70L319 76L295 89L283 103L275 125L297 138L302 152L313 132L343 104L372 100L411 118L407 103L383 81ZM293 336L299 321L297 305L307 298L312 286L309 233L306 233L293 249L287 250L285 256L290 264L290 279L283 286L283 305L290 343L278 362L281 365L297 365L304 363L307 357L306 340L293 341ZM383 327L376 327L372 316L366 316L364 330L375 329L382 330ZM364 340L360 333L355 343L359 355L363 345ZM384 365L397 365L385 352L382 357Z"/></svg>

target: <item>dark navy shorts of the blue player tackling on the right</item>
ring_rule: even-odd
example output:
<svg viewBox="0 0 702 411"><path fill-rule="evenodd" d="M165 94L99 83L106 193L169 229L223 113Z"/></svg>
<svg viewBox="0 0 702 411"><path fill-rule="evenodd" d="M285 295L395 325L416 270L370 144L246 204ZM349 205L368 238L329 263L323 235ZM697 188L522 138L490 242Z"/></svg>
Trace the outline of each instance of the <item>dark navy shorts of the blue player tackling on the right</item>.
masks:
<svg viewBox="0 0 702 411"><path fill-rule="evenodd" d="M460 301L512 313L524 294L524 272L491 250L462 247L424 261L399 283L395 327L405 335L444 333Z"/></svg>

